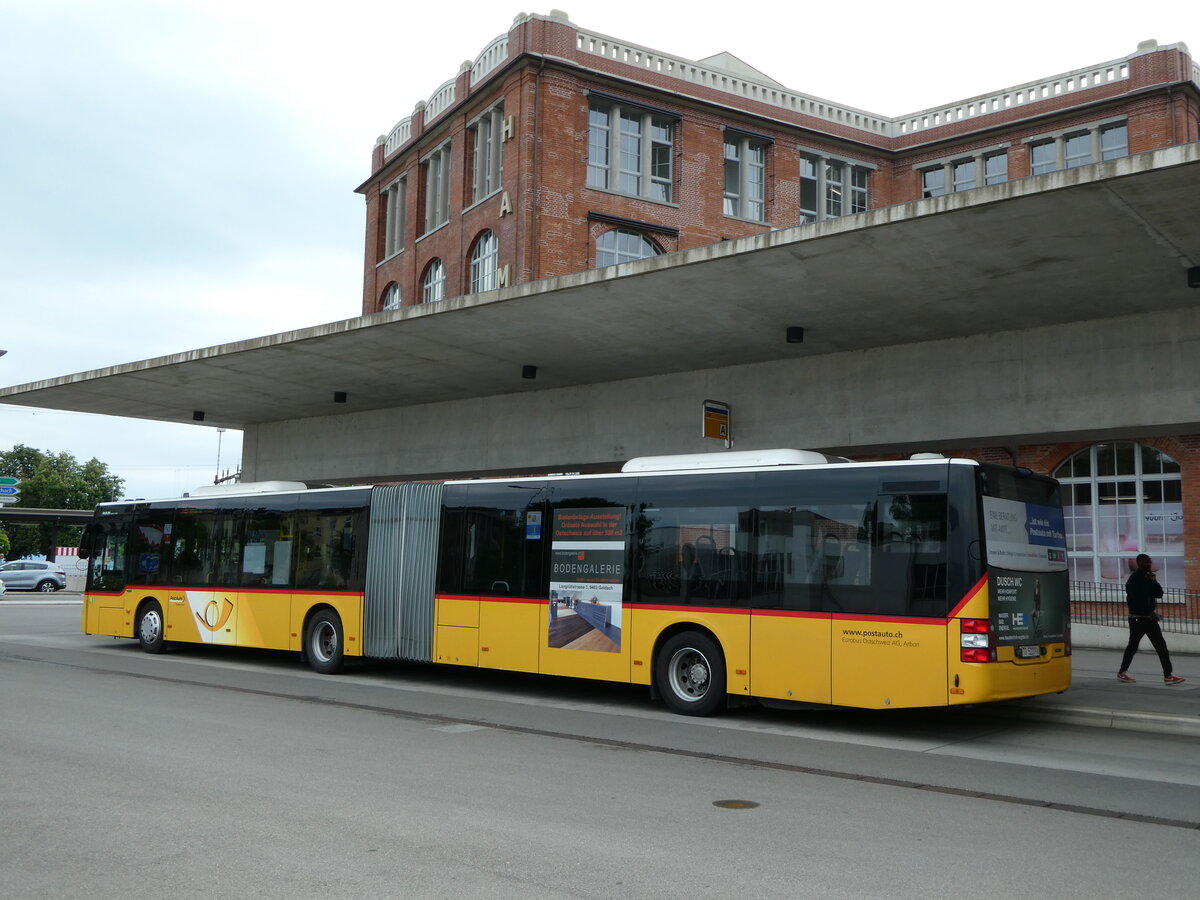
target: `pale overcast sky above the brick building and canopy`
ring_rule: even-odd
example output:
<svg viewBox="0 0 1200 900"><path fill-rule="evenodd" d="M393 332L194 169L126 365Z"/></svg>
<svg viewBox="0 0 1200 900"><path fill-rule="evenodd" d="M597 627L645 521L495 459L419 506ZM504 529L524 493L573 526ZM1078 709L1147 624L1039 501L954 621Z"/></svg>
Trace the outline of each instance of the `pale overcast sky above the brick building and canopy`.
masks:
<svg viewBox="0 0 1200 900"><path fill-rule="evenodd" d="M0 385L358 316L377 136L505 32L494 1L0 0ZM577 26L887 116L1190 42L1200 2L578 2ZM647 13L650 14L647 14ZM745 12L746 14L740 14ZM241 434L0 404L0 450L95 456L131 497Z"/></svg>

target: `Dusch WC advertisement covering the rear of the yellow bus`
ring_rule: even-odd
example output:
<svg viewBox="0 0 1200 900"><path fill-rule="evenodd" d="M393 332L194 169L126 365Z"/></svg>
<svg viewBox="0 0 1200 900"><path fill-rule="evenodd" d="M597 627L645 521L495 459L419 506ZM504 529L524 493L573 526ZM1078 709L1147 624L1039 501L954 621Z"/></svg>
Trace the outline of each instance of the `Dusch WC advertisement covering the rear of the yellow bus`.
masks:
<svg viewBox="0 0 1200 900"><path fill-rule="evenodd" d="M984 497L983 514L996 644L1064 641L1070 592L1062 510Z"/></svg>

